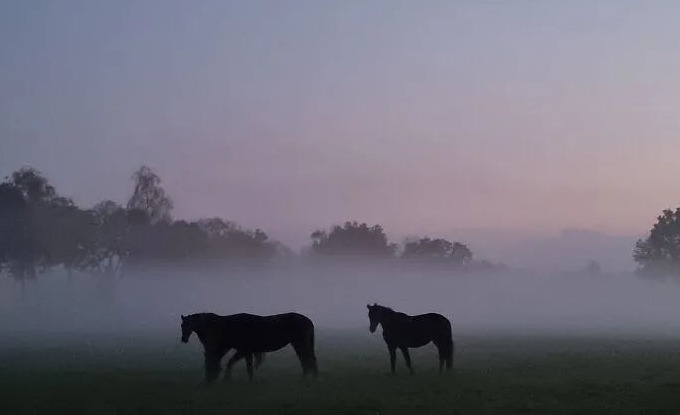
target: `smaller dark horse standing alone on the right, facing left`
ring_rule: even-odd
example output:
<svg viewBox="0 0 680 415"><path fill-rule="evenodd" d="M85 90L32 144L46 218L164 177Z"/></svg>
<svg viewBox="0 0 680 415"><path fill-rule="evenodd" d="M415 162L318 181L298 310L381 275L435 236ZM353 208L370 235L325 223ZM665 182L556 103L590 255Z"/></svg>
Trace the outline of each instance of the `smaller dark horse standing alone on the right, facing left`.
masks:
<svg viewBox="0 0 680 415"><path fill-rule="evenodd" d="M399 313L389 307L378 304L367 305L368 319L371 322L369 330L375 332L378 324L383 326L383 338L390 351L390 368L394 373L394 364L397 359L397 348L401 349L406 361L406 367L413 374L409 347L425 346L429 342L434 343L439 351L439 372L441 373L446 363L446 369L453 366L453 335L451 334L451 322L441 314L427 313L417 316L409 316Z"/></svg>

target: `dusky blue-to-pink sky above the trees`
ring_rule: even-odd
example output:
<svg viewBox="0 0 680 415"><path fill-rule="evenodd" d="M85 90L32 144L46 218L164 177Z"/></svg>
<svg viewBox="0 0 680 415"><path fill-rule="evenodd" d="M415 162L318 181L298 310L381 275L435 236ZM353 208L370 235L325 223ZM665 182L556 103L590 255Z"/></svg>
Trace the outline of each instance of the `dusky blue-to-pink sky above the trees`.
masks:
<svg viewBox="0 0 680 415"><path fill-rule="evenodd" d="M293 245L642 235L680 202L676 1L0 3L0 176ZM487 238L488 239L488 238ZM625 253L629 255L628 252Z"/></svg>

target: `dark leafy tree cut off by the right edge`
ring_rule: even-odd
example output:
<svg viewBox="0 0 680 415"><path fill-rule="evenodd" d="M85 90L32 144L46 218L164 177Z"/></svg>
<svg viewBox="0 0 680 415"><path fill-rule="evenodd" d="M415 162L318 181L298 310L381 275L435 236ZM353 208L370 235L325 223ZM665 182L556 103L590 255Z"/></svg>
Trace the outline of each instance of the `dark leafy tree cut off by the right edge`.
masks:
<svg viewBox="0 0 680 415"><path fill-rule="evenodd" d="M680 277L680 208L657 217L649 236L635 243L633 259L639 275Z"/></svg>

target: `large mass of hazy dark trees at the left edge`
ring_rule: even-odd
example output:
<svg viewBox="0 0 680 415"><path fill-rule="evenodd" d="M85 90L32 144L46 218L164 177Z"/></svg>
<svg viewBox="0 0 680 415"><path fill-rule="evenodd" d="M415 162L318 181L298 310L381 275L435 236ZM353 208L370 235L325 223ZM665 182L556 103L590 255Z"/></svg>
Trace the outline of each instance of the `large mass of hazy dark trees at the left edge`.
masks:
<svg viewBox="0 0 680 415"><path fill-rule="evenodd" d="M220 218L173 221L160 177L142 166L133 180L127 207L105 200L82 209L39 171L13 173L0 184L0 271L22 281L55 266L111 276L124 264L265 259L287 252L263 231Z"/></svg>

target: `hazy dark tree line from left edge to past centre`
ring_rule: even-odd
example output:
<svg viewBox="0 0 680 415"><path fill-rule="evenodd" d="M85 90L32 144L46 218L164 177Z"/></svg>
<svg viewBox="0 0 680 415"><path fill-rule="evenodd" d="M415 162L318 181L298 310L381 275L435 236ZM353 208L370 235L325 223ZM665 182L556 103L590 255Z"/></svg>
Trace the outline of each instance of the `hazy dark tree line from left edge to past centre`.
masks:
<svg viewBox="0 0 680 415"><path fill-rule="evenodd" d="M61 266L69 274L118 275L136 265L205 260L266 261L296 254L260 229L215 217L174 220L161 178L142 166L132 175L125 205L91 208L60 195L38 170L24 167L0 183L0 272L25 280ZM469 266L460 242L428 237L389 242L380 225L348 221L310 235L314 257L403 258ZM487 264L482 262L482 265Z"/></svg>

